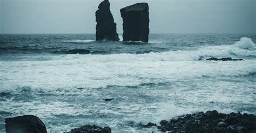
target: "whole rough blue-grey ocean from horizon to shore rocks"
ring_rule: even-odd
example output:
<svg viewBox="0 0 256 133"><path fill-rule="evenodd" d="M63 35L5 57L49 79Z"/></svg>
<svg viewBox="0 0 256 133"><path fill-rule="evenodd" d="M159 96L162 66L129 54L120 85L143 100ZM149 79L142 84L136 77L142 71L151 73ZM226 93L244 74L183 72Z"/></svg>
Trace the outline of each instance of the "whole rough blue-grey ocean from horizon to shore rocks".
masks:
<svg viewBox="0 0 256 133"><path fill-rule="evenodd" d="M149 38L0 34L0 132L5 118L27 114L41 118L48 132L85 124L152 132L157 128L140 124L214 109L256 115L256 34Z"/></svg>

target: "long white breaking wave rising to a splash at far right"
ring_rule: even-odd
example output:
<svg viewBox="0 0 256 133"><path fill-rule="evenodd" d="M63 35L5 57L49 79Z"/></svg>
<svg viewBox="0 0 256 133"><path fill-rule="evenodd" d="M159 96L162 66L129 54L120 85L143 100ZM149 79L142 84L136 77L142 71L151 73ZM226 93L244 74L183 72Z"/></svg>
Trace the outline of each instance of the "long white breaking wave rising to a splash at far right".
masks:
<svg viewBox="0 0 256 133"><path fill-rule="evenodd" d="M191 51L169 51L162 53L146 54L111 54L111 55L85 55L87 61L98 62L133 62L133 61L194 61L209 57L248 57L256 56L256 50L253 50L253 44L249 38L241 38L234 45L220 46L202 46L197 50ZM246 40L246 41L244 41ZM248 43L249 42L249 43ZM251 42L251 43L250 43ZM239 44L239 45L238 45ZM241 46L244 46L241 48ZM248 50L249 49L249 50ZM239 57L237 57L239 56Z"/></svg>

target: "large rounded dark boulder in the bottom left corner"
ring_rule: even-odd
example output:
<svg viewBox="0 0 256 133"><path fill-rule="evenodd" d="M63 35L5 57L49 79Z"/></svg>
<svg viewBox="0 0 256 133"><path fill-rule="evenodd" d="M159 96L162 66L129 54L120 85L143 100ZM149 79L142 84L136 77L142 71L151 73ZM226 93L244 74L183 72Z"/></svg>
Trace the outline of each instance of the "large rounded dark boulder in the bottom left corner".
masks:
<svg viewBox="0 0 256 133"><path fill-rule="evenodd" d="M46 133L44 123L36 116L24 115L5 119L6 133Z"/></svg>

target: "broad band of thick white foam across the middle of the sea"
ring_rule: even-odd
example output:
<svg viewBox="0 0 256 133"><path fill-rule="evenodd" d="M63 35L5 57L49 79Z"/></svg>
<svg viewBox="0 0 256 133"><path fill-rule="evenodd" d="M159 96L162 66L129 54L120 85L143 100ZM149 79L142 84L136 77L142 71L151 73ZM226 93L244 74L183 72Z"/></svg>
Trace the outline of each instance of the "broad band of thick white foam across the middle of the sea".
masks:
<svg viewBox="0 0 256 133"><path fill-rule="evenodd" d="M110 55L72 54L53 56L53 60L43 61L0 61L0 88L72 90L74 87L139 86L143 83L161 83L172 79L204 76L246 76L255 73L255 60L227 62L198 60L209 57L242 58L250 55L256 56L256 51L240 48L236 43L203 46L193 51ZM236 67L233 67L234 65Z"/></svg>

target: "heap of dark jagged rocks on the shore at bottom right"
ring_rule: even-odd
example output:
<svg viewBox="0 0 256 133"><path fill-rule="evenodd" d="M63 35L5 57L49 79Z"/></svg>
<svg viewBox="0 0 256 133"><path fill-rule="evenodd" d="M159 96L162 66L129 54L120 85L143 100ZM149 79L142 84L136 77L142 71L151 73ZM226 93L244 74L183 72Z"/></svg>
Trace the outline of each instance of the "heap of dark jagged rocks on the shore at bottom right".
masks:
<svg viewBox="0 0 256 133"><path fill-rule="evenodd" d="M150 125L153 125L152 123ZM172 132L252 132L256 131L256 116L240 113L222 114L216 110L163 120L157 128Z"/></svg>

